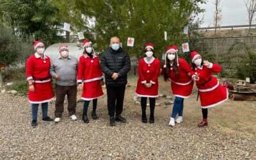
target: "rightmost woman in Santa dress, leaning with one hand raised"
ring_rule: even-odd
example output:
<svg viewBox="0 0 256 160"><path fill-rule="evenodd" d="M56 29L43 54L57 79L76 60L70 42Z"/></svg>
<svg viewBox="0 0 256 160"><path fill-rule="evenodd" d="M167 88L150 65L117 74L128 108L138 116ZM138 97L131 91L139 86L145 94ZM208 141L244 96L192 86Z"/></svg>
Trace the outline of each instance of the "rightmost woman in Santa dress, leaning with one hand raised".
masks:
<svg viewBox="0 0 256 160"><path fill-rule="evenodd" d="M212 108L228 99L228 90L221 86L218 79L212 76L212 73L221 71L220 65L202 61L198 52L191 52L192 70L195 74L192 76L196 81L198 95L200 96L203 121L198 127L204 127L207 124L208 108Z"/></svg>

